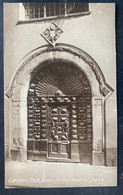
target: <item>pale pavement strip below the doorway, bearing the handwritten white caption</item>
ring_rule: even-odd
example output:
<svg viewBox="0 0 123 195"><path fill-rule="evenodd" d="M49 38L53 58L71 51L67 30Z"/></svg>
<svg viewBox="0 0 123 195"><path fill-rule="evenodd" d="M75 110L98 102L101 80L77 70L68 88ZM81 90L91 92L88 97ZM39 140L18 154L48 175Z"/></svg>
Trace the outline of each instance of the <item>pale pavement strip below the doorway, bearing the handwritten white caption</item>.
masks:
<svg viewBox="0 0 123 195"><path fill-rule="evenodd" d="M117 186L117 168L83 163L5 162L6 188Z"/></svg>

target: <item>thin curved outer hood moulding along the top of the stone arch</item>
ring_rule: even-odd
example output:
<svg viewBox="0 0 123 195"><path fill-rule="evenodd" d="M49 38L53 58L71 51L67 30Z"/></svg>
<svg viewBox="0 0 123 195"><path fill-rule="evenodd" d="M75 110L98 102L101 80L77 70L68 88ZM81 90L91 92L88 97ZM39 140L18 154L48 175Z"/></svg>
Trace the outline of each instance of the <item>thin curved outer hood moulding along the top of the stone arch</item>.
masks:
<svg viewBox="0 0 123 195"><path fill-rule="evenodd" d="M88 55L86 54L84 51L78 49L78 48L74 48L72 46L69 45L65 45L65 44L56 44L56 47L49 47L47 46L47 48L42 47L40 50L38 50L37 52L35 52L35 54L31 55L29 58L27 58L27 60L24 61L24 63L22 64L22 66L19 68L18 72L16 73L14 79L13 79L13 83L12 83L12 88L16 83L16 80L18 79L18 75L20 71L24 72L24 69L26 68L26 70L30 69L30 61L33 58L38 57L41 54L50 52L50 51L60 51L60 52L67 52L67 53L71 53L75 56L78 56L80 58L82 58L82 60L85 61L85 63L87 63L93 70L93 72L96 75L96 78L99 82L99 86L100 86L100 91L101 93L106 96L107 94L109 94L111 91L113 91L113 89L111 87L109 87L104 79L104 76L100 70L100 68L98 67L97 63ZM28 66L27 66L28 64ZM12 89L11 88L11 89Z"/></svg>

